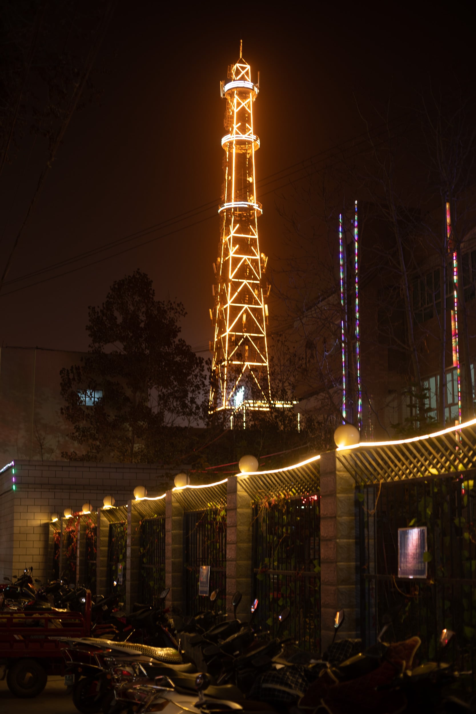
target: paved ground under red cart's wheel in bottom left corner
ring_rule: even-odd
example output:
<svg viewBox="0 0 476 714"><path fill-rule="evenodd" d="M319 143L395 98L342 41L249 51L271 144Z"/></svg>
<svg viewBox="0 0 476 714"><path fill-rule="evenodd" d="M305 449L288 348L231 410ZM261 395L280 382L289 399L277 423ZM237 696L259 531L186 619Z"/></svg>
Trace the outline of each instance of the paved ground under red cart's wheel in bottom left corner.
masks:
<svg viewBox="0 0 476 714"><path fill-rule="evenodd" d="M66 694L64 677L49 677L45 690L33 699L19 699L10 693L6 680L0 682L1 714L78 714L71 694Z"/></svg>

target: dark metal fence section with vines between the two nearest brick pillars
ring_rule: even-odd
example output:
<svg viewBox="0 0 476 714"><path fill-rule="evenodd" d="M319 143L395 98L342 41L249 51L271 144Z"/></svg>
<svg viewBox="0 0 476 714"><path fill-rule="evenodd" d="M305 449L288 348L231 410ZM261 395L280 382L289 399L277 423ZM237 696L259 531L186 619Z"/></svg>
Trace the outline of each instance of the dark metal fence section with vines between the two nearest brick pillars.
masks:
<svg viewBox="0 0 476 714"><path fill-rule="evenodd" d="M256 621L297 647L320 650L320 517L318 496L261 502L253 508ZM290 608L285 625L278 615ZM284 632L283 632L284 628Z"/></svg>

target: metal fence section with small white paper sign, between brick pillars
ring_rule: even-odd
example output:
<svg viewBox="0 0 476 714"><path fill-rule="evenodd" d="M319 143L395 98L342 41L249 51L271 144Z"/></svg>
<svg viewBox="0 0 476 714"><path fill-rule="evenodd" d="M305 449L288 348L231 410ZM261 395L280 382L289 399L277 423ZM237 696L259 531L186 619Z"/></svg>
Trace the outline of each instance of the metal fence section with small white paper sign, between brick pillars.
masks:
<svg viewBox="0 0 476 714"><path fill-rule="evenodd" d="M209 598L198 595L202 565L210 565L209 593L218 589L215 606L223 609L226 598L226 511L211 508L183 514L183 602L187 615L208 610Z"/></svg>

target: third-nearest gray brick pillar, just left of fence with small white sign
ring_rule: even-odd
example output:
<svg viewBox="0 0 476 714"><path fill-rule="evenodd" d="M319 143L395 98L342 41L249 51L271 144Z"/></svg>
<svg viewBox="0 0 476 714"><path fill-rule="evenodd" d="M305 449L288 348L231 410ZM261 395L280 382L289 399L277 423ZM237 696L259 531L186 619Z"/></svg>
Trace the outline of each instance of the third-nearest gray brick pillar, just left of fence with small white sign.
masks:
<svg viewBox="0 0 476 714"><path fill-rule="evenodd" d="M166 491L166 603L185 612L183 603L183 508L173 491Z"/></svg>

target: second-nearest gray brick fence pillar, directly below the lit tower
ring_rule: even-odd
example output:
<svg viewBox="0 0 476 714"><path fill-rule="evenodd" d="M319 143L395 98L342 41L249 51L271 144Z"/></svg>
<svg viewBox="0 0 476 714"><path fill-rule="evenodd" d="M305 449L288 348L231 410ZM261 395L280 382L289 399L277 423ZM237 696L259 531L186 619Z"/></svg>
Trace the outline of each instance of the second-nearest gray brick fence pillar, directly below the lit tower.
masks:
<svg viewBox="0 0 476 714"><path fill-rule="evenodd" d="M253 509L250 497L231 476L226 484L226 611L233 614L236 590L243 595L237 610L240 620L249 620L253 597L251 531Z"/></svg>

